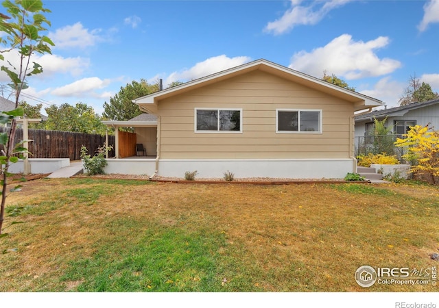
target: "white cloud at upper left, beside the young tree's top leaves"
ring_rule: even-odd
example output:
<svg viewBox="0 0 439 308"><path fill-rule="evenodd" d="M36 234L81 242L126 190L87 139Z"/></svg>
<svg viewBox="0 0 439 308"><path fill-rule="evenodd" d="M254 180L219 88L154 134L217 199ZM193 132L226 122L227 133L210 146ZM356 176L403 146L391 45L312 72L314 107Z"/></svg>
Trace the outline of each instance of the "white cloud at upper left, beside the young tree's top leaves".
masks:
<svg viewBox="0 0 439 308"><path fill-rule="evenodd" d="M55 48L71 49L91 47L97 42L103 40L99 33L102 29L89 30L84 28L82 23L75 23L57 29L55 32L49 33L49 38L54 41Z"/></svg>

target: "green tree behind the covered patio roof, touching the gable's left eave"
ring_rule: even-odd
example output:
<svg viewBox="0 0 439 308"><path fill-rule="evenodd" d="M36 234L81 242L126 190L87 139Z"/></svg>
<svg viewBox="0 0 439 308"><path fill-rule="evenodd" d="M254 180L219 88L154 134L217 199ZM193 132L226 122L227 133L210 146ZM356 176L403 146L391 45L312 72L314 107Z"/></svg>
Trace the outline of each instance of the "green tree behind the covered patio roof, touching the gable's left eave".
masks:
<svg viewBox="0 0 439 308"><path fill-rule="evenodd" d="M121 121L139 116L142 112L138 105L132 103L132 100L157 91L158 83L148 84L145 79L141 79L140 82L131 81L131 84L121 87L119 93L110 98L110 103L104 103L102 116L107 120Z"/></svg>

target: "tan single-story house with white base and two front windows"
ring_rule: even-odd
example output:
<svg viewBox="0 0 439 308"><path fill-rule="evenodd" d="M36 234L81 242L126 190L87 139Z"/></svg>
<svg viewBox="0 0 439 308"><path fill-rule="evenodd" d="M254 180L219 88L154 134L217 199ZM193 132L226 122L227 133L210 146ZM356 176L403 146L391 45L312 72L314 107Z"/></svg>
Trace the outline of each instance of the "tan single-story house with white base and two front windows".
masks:
<svg viewBox="0 0 439 308"><path fill-rule="evenodd" d="M119 157L108 159L106 172L135 169L143 172L138 174L181 178L197 170L198 177L221 178L229 170L239 178L291 179L343 178L355 172L354 113L382 104L267 60L133 102L156 118L104 123L134 127L135 139L155 157L127 157L124 164L130 166L121 167L122 144L131 137L117 133ZM132 155L137 141L128 143ZM154 161L154 170L146 165L148 159ZM115 164L119 167L113 168Z"/></svg>

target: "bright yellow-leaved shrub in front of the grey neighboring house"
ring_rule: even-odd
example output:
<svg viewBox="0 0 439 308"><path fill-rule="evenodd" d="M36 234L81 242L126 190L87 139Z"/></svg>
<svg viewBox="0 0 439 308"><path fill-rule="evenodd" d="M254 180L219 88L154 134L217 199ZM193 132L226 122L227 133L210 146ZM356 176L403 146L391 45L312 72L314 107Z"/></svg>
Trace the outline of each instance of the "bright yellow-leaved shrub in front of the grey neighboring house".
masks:
<svg viewBox="0 0 439 308"><path fill-rule="evenodd" d="M439 131L434 131L425 125L415 125L404 135L405 138L398 138L396 146L403 146L408 149L403 158L412 164L412 173L429 175L431 181L437 184L439 177Z"/></svg>

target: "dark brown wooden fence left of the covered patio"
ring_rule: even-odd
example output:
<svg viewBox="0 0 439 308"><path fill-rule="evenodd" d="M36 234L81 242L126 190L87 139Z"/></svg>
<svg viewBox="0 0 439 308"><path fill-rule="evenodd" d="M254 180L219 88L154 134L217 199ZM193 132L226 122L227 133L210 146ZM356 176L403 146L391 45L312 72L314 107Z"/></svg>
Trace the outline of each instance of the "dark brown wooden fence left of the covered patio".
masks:
<svg viewBox="0 0 439 308"><path fill-rule="evenodd" d="M0 132L6 129L0 127ZM17 129L15 140L23 140L23 129ZM29 129L29 158L70 158L80 160L81 146L86 146L88 154L94 155L96 149L105 143L105 136L88 133L73 133L71 131L46 131L43 129ZM115 136L108 136L108 145L115 147ZM109 157L115 156L114 149Z"/></svg>

